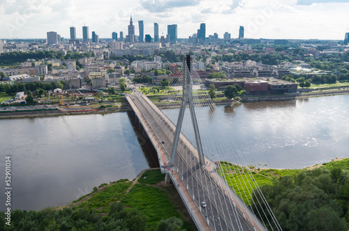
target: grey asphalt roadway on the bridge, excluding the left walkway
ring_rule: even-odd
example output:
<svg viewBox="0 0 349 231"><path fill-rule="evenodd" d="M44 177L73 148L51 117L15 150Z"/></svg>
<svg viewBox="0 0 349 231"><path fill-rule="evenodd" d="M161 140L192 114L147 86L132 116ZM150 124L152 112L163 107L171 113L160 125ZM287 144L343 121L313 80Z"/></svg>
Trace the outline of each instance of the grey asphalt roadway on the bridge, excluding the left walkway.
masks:
<svg viewBox="0 0 349 231"><path fill-rule="evenodd" d="M158 140L165 141L161 145L169 162L175 125L137 89L128 97L137 105L142 117L147 119L147 124L156 133ZM195 147L181 134L171 170L181 178L210 230L264 230L259 227L253 228L253 222L247 221L244 215L246 211L241 211L244 208L237 206L237 201L232 199L237 195L231 195L231 190L225 190L217 180L214 163L206 157L205 161L205 165L200 165ZM205 202L207 206L202 207L201 202Z"/></svg>

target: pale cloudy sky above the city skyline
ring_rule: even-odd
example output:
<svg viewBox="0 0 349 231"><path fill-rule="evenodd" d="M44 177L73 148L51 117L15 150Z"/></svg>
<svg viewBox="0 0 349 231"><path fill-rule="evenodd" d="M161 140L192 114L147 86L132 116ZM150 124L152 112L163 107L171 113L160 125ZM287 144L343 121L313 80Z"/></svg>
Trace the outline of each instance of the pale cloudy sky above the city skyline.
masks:
<svg viewBox="0 0 349 231"><path fill-rule="evenodd" d="M349 0L0 0L0 38L46 38L47 31L69 37L82 26L110 38L124 31L130 14L136 34L138 20L144 34L167 33L168 24L178 25L178 37L188 38L206 23L206 36L228 31L237 38L244 26L246 38L318 38L343 40L349 32ZM91 38L91 34L90 34Z"/></svg>

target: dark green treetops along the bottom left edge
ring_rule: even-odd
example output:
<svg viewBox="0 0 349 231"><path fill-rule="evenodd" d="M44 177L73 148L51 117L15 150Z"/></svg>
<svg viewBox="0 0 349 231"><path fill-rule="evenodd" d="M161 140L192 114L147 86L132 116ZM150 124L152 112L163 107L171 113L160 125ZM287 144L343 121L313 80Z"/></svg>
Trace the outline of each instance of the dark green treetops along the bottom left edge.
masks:
<svg viewBox="0 0 349 231"><path fill-rule="evenodd" d="M11 225L6 225L4 212L0 214L3 230L147 230L147 216L137 209L124 209L121 202L112 203L105 217L96 210L85 208L40 211L16 209L11 213ZM171 217L161 220L155 230L181 230L182 225L183 221L179 218Z"/></svg>

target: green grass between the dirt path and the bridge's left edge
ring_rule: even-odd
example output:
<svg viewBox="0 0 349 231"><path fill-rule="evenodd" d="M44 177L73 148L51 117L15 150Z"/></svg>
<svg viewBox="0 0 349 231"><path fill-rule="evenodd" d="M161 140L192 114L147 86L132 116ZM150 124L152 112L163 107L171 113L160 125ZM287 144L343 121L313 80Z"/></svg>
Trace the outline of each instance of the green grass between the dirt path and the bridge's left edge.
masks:
<svg viewBox="0 0 349 231"><path fill-rule="evenodd" d="M163 218L172 216L184 220L183 214L179 214L168 195L161 189L145 184L135 184L126 197L121 200L125 207L138 209L147 216L147 230L153 230ZM184 221L184 229L195 230L191 224Z"/></svg>

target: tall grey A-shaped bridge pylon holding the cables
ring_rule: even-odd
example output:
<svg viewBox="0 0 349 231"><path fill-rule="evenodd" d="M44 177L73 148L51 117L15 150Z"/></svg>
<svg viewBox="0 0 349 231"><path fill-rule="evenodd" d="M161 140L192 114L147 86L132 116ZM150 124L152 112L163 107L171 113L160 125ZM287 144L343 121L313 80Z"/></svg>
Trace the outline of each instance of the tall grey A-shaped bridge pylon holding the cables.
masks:
<svg viewBox="0 0 349 231"><path fill-rule="evenodd" d="M181 133L181 125L184 119L184 111L186 110L186 105L189 105L189 110L191 112L191 121L194 128L196 148L198 149L199 162L201 165L205 164L204 153L202 150L202 143L199 133L198 120L195 115L195 108L193 103L193 77L191 75L191 70L193 69L193 58L190 55L186 55L183 60L183 96L181 98L181 107L179 109L179 116L177 119L176 131L174 132L174 139L172 142L171 151L171 162L170 167L173 165L174 156L176 155L177 145L179 141L179 135Z"/></svg>

